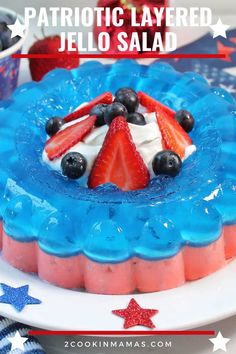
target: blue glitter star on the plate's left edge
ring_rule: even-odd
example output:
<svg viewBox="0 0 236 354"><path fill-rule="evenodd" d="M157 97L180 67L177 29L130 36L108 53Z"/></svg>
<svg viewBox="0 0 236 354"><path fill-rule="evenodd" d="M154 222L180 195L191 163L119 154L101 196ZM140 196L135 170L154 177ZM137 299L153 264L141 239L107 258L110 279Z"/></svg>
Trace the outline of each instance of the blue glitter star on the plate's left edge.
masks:
<svg viewBox="0 0 236 354"><path fill-rule="evenodd" d="M28 294L29 285L13 288L7 284L0 284L4 294L0 296L0 302L12 305L18 312L21 312L26 305L41 304L42 301Z"/></svg>

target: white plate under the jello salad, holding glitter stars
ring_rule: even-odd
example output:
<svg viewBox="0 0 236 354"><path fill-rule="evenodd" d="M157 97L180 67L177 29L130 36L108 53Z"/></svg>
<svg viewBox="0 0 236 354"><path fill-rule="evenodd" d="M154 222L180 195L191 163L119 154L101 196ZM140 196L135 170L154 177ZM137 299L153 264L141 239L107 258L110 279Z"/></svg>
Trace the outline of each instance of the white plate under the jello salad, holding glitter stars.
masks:
<svg viewBox="0 0 236 354"><path fill-rule="evenodd" d="M0 313L44 329L122 330L123 319L111 311L126 308L134 297L140 306L159 310L153 317L158 330L190 329L236 314L235 274L236 260L204 279L188 282L176 289L108 296L57 288L37 276L12 268L0 258L0 283L15 287L29 284L29 294L42 300L42 304L26 306L20 313L10 305L0 304Z"/></svg>

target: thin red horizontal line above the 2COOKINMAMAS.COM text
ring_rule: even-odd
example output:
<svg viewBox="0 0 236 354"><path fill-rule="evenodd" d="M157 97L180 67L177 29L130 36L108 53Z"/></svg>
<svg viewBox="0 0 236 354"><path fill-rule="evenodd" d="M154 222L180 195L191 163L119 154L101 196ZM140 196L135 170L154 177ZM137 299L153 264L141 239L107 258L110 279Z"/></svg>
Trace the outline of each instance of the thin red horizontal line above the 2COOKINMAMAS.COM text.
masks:
<svg viewBox="0 0 236 354"><path fill-rule="evenodd" d="M44 331L30 330L29 335L34 336L58 336L58 335L172 335L172 336L209 336L215 335L215 331Z"/></svg>

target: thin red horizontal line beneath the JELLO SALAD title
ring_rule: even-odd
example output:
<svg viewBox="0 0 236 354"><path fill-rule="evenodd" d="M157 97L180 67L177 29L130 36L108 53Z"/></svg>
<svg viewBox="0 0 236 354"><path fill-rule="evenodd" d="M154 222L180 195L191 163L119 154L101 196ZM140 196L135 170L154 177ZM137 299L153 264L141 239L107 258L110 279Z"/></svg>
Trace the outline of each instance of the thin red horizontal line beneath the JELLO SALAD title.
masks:
<svg viewBox="0 0 236 354"><path fill-rule="evenodd" d="M12 54L12 58L28 59L57 59L57 58L82 58L82 59L224 59L226 54Z"/></svg>

